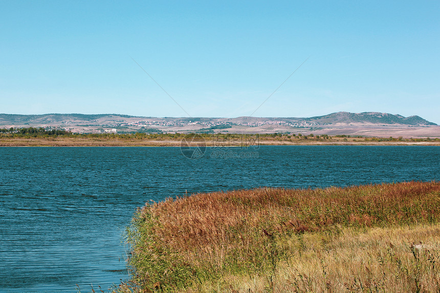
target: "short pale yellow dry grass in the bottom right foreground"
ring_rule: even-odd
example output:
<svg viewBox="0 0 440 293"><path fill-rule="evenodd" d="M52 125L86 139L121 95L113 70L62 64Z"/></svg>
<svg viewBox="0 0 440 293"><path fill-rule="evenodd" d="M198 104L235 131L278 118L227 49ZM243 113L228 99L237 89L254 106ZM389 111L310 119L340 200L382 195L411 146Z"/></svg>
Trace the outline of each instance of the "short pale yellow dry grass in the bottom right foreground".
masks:
<svg viewBox="0 0 440 293"><path fill-rule="evenodd" d="M280 241L289 257L272 275L274 292L438 292L440 225L344 228ZM280 243L280 244L281 244ZM270 275L228 275L197 291L265 292ZM194 292L194 289L187 289Z"/></svg>

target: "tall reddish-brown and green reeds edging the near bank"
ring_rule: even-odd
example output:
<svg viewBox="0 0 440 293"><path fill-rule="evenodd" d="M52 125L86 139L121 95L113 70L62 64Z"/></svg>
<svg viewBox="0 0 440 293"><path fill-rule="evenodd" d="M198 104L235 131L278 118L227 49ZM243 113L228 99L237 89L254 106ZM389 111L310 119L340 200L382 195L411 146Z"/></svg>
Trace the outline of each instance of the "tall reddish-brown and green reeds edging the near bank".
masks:
<svg viewBox="0 0 440 293"><path fill-rule="evenodd" d="M313 274L307 270L300 272L301 267L305 269L309 265L326 267L329 261L322 257L325 253L321 251L321 257L315 256L307 264L312 256L307 252L310 244L304 239L319 235L327 239L323 240L325 243L342 243L343 240L332 237L348 233L347 229L397 229L415 224L432 225L439 219L440 183L434 181L326 189L258 188L168 198L140 209L127 229L133 276L115 290L250 292L257 290L257 286L245 290L218 284L234 278L263 278L268 291L337 292L337 288L344 287L344 282L342 287L337 285L336 280L340 279L337 273L329 271L326 279L322 279L323 285L313 285L310 281ZM314 253L318 251L315 249ZM410 248L408 251L411 253ZM301 257L295 257L296 252L302 252ZM307 254L310 257L303 259ZM419 252L411 255L422 258ZM353 263L359 263L359 259L356 261ZM365 257L364 262L367 261ZM339 263L350 261L339 260ZM302 279L291 276L286 279L289 281L280 283L280 270ZM320 274L322 270L325 268L319 269ZM281 275L285 276L284 273ZM309 277L305 280L304 276ZM369 280L371 283L372 279ZM295 282L296 287L286 285ZM347 279L345 289L365 291L356 282ZM207 284L217 285L214 288L206 287ZM417 286L421 288L421 283Z"/></svg>

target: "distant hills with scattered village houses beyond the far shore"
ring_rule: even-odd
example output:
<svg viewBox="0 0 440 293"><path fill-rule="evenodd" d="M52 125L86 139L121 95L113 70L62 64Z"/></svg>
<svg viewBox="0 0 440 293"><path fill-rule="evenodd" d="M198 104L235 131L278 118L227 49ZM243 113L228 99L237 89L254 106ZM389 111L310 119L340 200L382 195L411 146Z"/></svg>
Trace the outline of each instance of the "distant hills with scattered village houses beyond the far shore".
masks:
<svg viewBox="0 0 440 293"><path fill-rule="evenodd" d="M18 115L0 114L0 128L44 127L46 129L67 130L74 133L334 133L369 135L373 129L392 128L392 132L377 132L375 135L408 135L422 133L440 137L435 123L419 116L404 117L379 112L336 112L324 116L299 117L139 117L120 114L44 114ZM416 130L411 134L396 132L398 128ZM437 126L435 126L437 127ZM369 130L367 130L367 128ZM422 128L430 128L423 130ZM375 130L375 131L376 131ZM379 130L378 130L379 131ZM376 132L375 132L376 133ZM421 134L421 135L422 135ZM389 136L389 135L388 135Z"/></svg>

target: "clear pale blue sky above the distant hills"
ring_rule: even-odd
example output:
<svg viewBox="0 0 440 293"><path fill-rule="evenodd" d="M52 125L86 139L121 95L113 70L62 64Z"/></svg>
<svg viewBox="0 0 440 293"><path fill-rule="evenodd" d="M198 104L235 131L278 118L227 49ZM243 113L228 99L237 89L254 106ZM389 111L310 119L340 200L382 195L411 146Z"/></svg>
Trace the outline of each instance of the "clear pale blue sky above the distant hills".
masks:
<svg viewBox="0 0 440 293"><path fill-rule="evenodd" d="M0 112L440 124L440 1L0 0Z"/></svg>

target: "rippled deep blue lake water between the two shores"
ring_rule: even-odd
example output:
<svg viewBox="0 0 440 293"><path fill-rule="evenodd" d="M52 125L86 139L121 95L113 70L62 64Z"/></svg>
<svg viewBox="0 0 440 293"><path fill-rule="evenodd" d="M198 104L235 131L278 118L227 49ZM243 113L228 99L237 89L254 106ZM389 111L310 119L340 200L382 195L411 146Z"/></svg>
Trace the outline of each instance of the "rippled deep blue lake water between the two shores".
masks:
<svg viewBox="0 0 440 293"><path fill-rule="evenodd" d="M440 147L0 148L0 292L107 289L124 274L121 233L148 200L255 187L440 181Z"/></svg>

